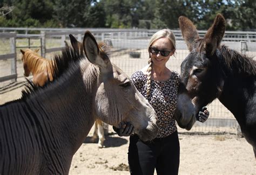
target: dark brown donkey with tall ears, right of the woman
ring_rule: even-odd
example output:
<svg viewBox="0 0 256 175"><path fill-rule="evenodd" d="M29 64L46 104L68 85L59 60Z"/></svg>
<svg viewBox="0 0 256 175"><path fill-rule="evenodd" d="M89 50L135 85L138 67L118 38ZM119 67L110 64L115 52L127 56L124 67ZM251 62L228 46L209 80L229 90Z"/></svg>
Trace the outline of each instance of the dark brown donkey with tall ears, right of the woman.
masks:
<svg viewBox="0 0 256 175"><path fill-rule="evenodd" d="M186 17L179 26L190 54L181 64L181 79L197 109L218 98L237 119L256 158L256 62L220 45L225 19L218 14L204 38Z"/></svg>

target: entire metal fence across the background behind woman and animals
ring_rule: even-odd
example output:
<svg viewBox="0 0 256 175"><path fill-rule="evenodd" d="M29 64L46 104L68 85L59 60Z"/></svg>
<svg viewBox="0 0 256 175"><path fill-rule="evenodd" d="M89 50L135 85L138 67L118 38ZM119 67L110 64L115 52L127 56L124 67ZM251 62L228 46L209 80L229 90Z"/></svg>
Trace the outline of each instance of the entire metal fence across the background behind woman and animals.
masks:
<svg viewBox="0 0 256 175"><path fill-rule="evenodd" d="M1 28L0 28L1 30ZM48 59L52 55L62 50L65 46L64 41L69 43L69 34L73 34L79 41L82 41L84 31L82 30L66 30L66 31L41 31L40 34L33 34L33 41L30 47L41 48L42 55ZM147 64L148 53L146 50L149 39L156 30L90 30L98 41L105 41L112 46L110 55L111 61L129 76L138 69L143 68ZM174 30L177 39L177 50L171 59L167 62L167 67L180 73L180 64L189 53L179 30ZM206 31L199 31L203 37ZM1 35L0 35L1 36ZM22 38L23 37L23 38ZM17 47L24 47L24 39L32 37L31 34L17 34ZM31 38L32 39L32 38ZM23 40L23 41L22 41ZM21 43L18 43L18 42ZM231 32L226 31L223 38L223 44L247 54L256 56L256 32ZM0 48L1 52L1 48ZM23 76L21 55L17 51L17 69L18 77ZM0 57L1 58L1 57ZM1 60L0 60L1 61ZM2 63L1 63L2 64ZM0 77L2 73L0 74ZM201 124L196 123L192 131L196 132L229 132L236 133L238 123L234 120L233 115L218 100L214 100L208 107L211 117L207 122ZM185 132L179 129L179 132Z"/></svg>

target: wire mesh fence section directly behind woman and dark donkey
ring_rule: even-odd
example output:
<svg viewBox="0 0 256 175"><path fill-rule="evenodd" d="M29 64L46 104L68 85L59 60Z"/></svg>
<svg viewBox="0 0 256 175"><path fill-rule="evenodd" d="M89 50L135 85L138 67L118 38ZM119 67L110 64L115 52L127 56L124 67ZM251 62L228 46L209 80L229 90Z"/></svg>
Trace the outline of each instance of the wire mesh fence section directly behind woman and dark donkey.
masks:
<svg viewBox="0 0 256 175"><path fill-rule="evenodd" d="M129 76L135 71L142 69L147 65L147 59L149 58L149 53L146 50L149 39L113 39L113 48L117 51L112 53L111 61L118 67L123 69L125 73ZM226 45L235 46L236 50L241 50L240 42L234 41L224 41ZM167 62L167 67L172 71L180 73L181 62L186 58L189 51L186 49L186 45L183 40L177 41L177 50L175 56L171 57ZM231 47L232 48L232 47ZM137 53L134 57L134 53ZM247 52L250 56L255 56L256 52L251 50ZM138 58L137 58L138 57ZM227 110L219 100L214 100L210 105L207 106L210 111L210 118L205 123L197 122L191 131L194 132L228 132L237 134L239 130L239 125L235 121L233 114ZM187 132L185 129L179 128L179 132Z"/></svg>

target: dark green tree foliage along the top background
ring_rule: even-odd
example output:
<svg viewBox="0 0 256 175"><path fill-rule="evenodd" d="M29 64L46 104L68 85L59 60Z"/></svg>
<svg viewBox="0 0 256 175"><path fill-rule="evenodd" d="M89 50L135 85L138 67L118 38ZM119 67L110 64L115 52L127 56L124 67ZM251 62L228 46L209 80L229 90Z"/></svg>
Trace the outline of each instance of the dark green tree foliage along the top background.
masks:
<svg viewBox="0 0 256 175"><path fill-rule="evenodd" d="M0 26L178 29L183 15L206 30L217 13L228 30L256 30L255 0L2 0Z"/></svg>

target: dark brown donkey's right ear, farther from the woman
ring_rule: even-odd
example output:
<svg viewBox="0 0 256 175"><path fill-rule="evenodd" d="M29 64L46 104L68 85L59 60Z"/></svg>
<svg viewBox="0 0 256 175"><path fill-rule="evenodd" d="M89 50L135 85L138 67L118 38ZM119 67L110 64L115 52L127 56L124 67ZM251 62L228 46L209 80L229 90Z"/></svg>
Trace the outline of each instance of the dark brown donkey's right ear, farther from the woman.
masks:
<svg viewBox="0 0 256 175"><path fill-rule="evenodd" d="M207 55L209 56L213 55L217 47L219 47L220 42L225 33L225 25L226 25L226 22L224 17L218 14L215 17L212 26L210 27L210 29L208 29L204 37L205 51Z"/></svg>

